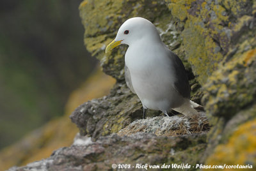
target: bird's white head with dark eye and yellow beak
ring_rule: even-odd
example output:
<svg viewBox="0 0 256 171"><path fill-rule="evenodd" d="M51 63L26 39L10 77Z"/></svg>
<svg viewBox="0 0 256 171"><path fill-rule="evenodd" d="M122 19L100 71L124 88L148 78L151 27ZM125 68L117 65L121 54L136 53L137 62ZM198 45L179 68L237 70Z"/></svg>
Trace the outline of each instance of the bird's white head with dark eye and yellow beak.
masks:
<svg viewBox="0 0 256 171"><path fill-rule="evenodd" d="M132 45L132 43L141 39L145 39L144 41L147 43L147 39L150 38L160 39L157 29L152 22L141 17L128 19L118 30L115 40L106 47L106 53L118 45Z"/></svg>

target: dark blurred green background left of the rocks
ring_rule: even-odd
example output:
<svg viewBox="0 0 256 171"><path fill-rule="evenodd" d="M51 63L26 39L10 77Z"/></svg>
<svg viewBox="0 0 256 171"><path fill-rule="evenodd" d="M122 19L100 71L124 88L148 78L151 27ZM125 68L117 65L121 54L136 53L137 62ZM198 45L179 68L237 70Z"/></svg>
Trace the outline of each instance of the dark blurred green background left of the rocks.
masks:
<svg viewBox="0 0 256 171"><path fill-rule="evenodd" d="M0 1L0 149L63 115L95 67L83 46L81 1Z"/></svg>

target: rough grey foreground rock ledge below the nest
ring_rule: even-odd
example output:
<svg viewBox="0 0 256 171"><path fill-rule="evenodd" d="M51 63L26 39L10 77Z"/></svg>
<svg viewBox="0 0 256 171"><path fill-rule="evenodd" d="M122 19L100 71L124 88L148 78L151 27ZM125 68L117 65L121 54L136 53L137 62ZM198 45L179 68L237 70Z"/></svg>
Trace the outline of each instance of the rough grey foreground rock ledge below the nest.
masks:
<svg viewBox="0 0 256 171"><path fill-rule="evenodd" d="M25 167L13 167L9 171L113 170L114 163L131 165L131 168L123 170L141 170L136 168L137 163L195 165L202 156L201 151L205 149L205 138L205 134L173 138L157 137L152 133L135 133L124 137L114 134L100 137L96 142L84 138L77 145L54 151L51 157L45 160L30 163Z"/></svg>

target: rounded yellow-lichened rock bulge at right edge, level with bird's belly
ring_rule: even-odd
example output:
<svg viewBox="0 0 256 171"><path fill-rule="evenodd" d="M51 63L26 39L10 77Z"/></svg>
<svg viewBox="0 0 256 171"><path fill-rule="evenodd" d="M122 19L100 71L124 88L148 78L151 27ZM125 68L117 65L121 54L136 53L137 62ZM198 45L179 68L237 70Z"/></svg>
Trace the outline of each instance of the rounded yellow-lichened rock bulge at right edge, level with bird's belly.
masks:
<svg viewBox="0 0 256 171"><path fill-rule="evenodd" d="M243 47L241 47L243 48ZM239 51L239 50L237 50ZM255 94L256 49L237 53L228 63L220 65L205 84L205 108L211 114L230 117L238 108L250 103ZM211 94L211 96L210 96Z"/></svg>

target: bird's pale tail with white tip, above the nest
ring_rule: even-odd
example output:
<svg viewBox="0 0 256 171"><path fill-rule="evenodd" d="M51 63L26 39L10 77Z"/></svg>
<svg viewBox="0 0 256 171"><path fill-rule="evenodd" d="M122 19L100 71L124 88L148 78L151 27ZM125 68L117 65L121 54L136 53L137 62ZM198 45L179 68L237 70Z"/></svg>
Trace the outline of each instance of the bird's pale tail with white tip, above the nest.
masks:
<svg viewBox="0 0 256 171"><path fill-rule="evenodd" d="M180 107L172 109L184 115L197 115L198 111L204 111L204 107L191 100L186 101Z"/></svg>

